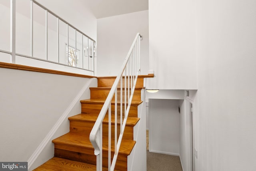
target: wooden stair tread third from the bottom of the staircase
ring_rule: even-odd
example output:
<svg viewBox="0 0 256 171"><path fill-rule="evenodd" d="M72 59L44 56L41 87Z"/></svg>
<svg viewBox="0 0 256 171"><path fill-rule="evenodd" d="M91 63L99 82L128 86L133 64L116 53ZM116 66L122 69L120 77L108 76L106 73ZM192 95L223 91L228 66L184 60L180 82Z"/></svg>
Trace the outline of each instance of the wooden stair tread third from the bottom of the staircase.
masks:
<svg viewBox="0 0 256 171"><path fill-rule="evenodd" d="M78 115L68 117L70 121L91 121L91 122L95 122L97 118L98 118L98 114L96 113L90 113L90 114L80 113ZM120 115L118 115L117 120L118 120L118 123L120 124ZM138 117L127 117L126 125L134 126L136 125L136 123L138 123L139 120L140 118ZM108 117L105 117L103 119L103 123L108 123ZM114 124L114 117L111 117L111 123Z"/></svg>

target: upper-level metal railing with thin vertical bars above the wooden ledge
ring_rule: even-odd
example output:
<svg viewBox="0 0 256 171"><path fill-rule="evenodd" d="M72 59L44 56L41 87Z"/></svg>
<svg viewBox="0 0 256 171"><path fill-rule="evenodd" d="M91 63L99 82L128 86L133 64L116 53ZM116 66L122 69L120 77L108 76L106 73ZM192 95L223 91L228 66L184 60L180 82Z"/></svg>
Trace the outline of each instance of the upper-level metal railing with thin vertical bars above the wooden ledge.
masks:
<svg viewBox="0 0 256 171"><path fill-rule="evenodd" d="M22 1L24 3L25 1ZM30 3L30 17L22 18L22 14L17 12L16 4L20 1L10 0L10 51L0 46L0 52L10 54L10 63L16 64L16 57L32 58L44 62L50 62L63 66L78 68L92 72L94 75L94 48L95 40L78 30L54 12L42 6L36 0L27 0ZM22 18L22 24L29 25L30 37L22 37L22 41L30 42L30 47L19 48L22 42L17 43L16 34L21 29L17 29ZM30 20L30 21L28 21ZM2 23L1 27L6 24ZM39 30L44 30L39 32ZM26 30L27 31L27 30ZM45 35L42 35L45 34ZM25 35L25 34L24 34ZM20 40L20 37L19 37ZM18 50L22 49L22 52ZM24 52L27 50L29 52ZM45 52L41 52L41 50Z"/></svg>

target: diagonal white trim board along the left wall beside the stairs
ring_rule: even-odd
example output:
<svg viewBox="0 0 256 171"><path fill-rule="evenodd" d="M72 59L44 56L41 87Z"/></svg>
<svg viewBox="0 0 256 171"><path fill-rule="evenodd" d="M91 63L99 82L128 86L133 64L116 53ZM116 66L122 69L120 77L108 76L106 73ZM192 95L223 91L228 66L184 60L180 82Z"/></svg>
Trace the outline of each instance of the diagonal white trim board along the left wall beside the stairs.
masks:
<svg viewBox="0 0 256 171"><path fill-rule="evenodd" d="M58 121L55 123L55 125L52 127L52 129L49 131L49 133L46 135L46 137L43 139L43 141L40 143L40 145L37 147L36 151L30 156L28 159L28 169L32 166L34 161L37 159L37 157L40 155L40 153L43 151L44 147L48 144L54 133L58 130L60 125L63 123L63 121L66 119L74 105L76 105L77 101L79 101L80 97L86 91L86 89L89 88L90 84L93 80L96 78L91 78L85 85L82 87L82 89L79 91L79 93L76 95L76 97L73 99L73 101L70 103L68 108L64 111L64 113L61 115L61 117L58 119Z"/></svg>

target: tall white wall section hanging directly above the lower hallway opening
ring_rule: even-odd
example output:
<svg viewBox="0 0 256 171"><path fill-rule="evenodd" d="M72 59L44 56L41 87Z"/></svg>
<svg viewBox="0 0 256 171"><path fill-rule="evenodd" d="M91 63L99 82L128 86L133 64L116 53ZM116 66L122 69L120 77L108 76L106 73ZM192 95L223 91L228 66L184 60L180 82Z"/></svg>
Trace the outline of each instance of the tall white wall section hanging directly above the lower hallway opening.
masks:
<svg viewBox="0 0 256 171"><path fill-rule="evenodd" d="M149 89L197 89L195 0L149 0Z"/></svg>

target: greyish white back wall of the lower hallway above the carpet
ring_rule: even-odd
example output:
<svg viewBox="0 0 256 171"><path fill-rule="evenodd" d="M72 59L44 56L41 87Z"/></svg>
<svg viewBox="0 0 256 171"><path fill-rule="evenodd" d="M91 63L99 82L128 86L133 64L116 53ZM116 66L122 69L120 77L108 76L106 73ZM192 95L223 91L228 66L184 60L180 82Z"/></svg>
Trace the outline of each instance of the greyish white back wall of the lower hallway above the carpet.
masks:
<svg viewBox="0 0 256 171"><path fill-rule="evenodd" d="M149 151L180 153L179 100L149 99Z"/></svg>

